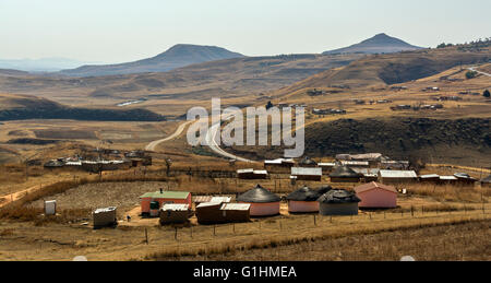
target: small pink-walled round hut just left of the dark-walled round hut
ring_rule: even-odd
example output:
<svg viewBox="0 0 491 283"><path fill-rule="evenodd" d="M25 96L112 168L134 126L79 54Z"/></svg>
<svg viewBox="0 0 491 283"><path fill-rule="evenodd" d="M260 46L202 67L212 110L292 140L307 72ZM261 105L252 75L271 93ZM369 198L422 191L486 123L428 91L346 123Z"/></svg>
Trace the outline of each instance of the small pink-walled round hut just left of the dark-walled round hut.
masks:
<svg viewBox="0 0 491 283"><path fill-rule="evenodd" d="M322 196L318 190L313 190L307 186L300 188L286 197L288 201L288 212L318 212L318 199Z"/></svg>

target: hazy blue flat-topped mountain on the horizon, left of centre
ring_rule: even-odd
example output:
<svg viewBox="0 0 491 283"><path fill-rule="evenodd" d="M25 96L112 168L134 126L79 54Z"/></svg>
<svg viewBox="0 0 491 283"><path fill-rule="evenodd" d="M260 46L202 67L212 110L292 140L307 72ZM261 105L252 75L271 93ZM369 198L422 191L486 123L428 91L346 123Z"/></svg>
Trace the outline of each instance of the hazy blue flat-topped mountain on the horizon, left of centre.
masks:
<svg viewBox="0 0 491 283"><path fill-rule="evenodd" d="M63 70L60 73L71 76L96 76L144 72L166 72L193 63L241 57L244 56L216 46L179 44L155 57L134 62L83 66L72 70Z"/></svg>

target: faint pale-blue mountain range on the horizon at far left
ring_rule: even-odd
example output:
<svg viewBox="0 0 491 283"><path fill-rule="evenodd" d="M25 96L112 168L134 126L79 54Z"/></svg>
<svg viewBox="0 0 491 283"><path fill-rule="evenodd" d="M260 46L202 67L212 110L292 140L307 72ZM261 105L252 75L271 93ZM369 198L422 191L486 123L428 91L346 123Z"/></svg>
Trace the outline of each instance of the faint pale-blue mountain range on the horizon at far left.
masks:
<svg viewBox="0 0 491 283"><path fill-rule="evenodd" d="M63 69L77 68L89 62L67 58L41 59L0 59L0 69L12 69L25 72L58 72Z"/></svg>

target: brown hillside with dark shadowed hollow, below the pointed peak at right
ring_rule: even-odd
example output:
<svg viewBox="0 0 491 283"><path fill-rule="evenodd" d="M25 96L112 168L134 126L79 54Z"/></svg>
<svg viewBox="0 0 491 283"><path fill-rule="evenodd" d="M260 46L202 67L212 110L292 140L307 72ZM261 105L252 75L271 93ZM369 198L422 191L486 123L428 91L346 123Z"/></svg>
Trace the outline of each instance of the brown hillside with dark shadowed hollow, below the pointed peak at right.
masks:
<svg viewBox="0 0 491 283"><path fill-rule="evenodd" d="M276 95L288 94L306 87L385 86L430 76L458 64L488 62L491 48L469 52L456 48L371 55L345 68L327 70L285 87Z"/></svg>

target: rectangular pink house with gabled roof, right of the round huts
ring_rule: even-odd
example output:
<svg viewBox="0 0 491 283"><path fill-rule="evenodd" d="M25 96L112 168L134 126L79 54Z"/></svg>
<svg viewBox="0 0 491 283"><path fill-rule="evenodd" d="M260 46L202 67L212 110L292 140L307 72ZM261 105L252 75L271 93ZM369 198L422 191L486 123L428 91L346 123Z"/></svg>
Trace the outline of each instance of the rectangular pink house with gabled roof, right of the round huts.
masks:
<svg viewBox="0 0 491 283"><path fill-rule="evenodd" d="M369 182L355 188L361 202L359 208L393 209L397 207L397 190L392 186Z"/></svg>

